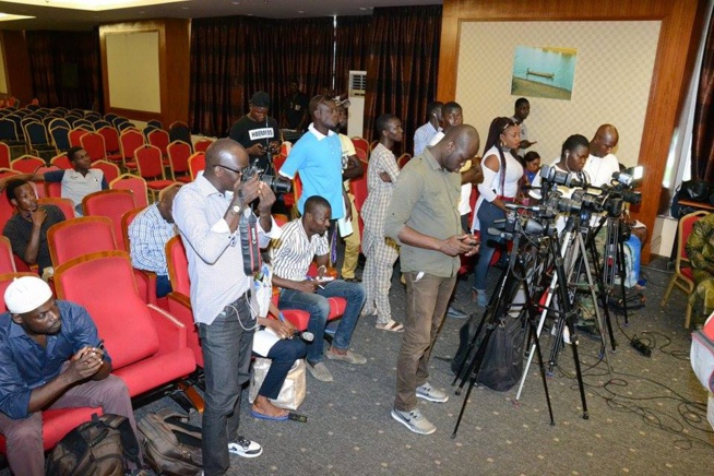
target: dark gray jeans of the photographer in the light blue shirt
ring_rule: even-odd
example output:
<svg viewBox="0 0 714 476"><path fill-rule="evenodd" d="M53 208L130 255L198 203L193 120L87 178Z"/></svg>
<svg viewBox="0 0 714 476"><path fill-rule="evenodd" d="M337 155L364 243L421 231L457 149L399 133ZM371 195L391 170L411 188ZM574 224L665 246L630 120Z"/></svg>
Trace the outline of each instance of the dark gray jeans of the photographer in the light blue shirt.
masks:
<svg viewBox="0 0 714 476"><path fill-rule="evenodd" d="M228 443L238 436L240 394L250 379L254 326L242 296L226 306L211 325L199 324L205 374L201 449L206 476L223 475L230 467Z"/></svg>

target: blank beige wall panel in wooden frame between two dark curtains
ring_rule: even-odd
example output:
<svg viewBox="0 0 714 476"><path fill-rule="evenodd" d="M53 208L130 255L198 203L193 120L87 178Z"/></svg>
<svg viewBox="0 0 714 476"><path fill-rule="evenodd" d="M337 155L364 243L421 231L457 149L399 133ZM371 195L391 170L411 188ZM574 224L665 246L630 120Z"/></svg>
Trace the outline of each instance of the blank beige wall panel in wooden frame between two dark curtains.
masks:
<svg viewBox="0 0 714 476"><path fill-rule="evenodd" d="M158 31L106 34L109 106L162 111Z"/></svg>

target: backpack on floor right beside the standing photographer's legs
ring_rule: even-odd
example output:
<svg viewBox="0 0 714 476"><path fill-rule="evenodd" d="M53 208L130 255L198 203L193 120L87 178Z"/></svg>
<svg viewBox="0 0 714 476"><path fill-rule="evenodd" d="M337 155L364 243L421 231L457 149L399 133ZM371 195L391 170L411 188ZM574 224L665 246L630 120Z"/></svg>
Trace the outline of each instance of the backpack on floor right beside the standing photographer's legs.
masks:
<svg viewBox="0 0 714 476"><path fill-rule="evenodd" d="M168 408L139 421L144 459L159 475L199 475L203 467L201 428Z"/></svg>

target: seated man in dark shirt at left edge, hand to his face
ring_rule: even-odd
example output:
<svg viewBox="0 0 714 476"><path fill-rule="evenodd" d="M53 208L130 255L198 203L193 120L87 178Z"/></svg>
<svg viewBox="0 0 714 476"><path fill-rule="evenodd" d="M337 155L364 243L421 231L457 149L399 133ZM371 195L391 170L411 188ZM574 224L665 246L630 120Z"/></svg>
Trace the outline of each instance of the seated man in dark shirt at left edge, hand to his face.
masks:
<svg viewBox="0 0 714 476"><path fill-rule="evenodd" d="M64 214L55 205L39 206L35 189L25 180L11 179L5 188L8 200L17 213L8 221L2 234L10 240L13 253L28 265L36 263L41 274L52 265L47 230L64 222Z"/></svg>

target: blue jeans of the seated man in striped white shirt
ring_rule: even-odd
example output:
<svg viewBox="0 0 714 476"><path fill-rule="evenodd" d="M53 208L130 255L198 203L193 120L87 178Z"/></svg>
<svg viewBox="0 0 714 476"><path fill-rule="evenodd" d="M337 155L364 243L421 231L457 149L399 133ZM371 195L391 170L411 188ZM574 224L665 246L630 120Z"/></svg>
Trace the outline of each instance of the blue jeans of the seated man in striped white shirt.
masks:
<svg viewBox="0 0 714 476"><path fill-rule="evenodd" d="M365 306L365 288L360 283L347 283L335 279L318 288L316 294L304 293L296 289L283 289L277 304L278 308L300 309L310 313L308 331L314 335L312 344L308 344L308 361L317 364L322 360L324 350L324 326L330 316L329 297L343 297L347 300L347 308L340 320L337 332L332 345L338 349L347 349L352 333L357 325L359 312Z"/></svg>

